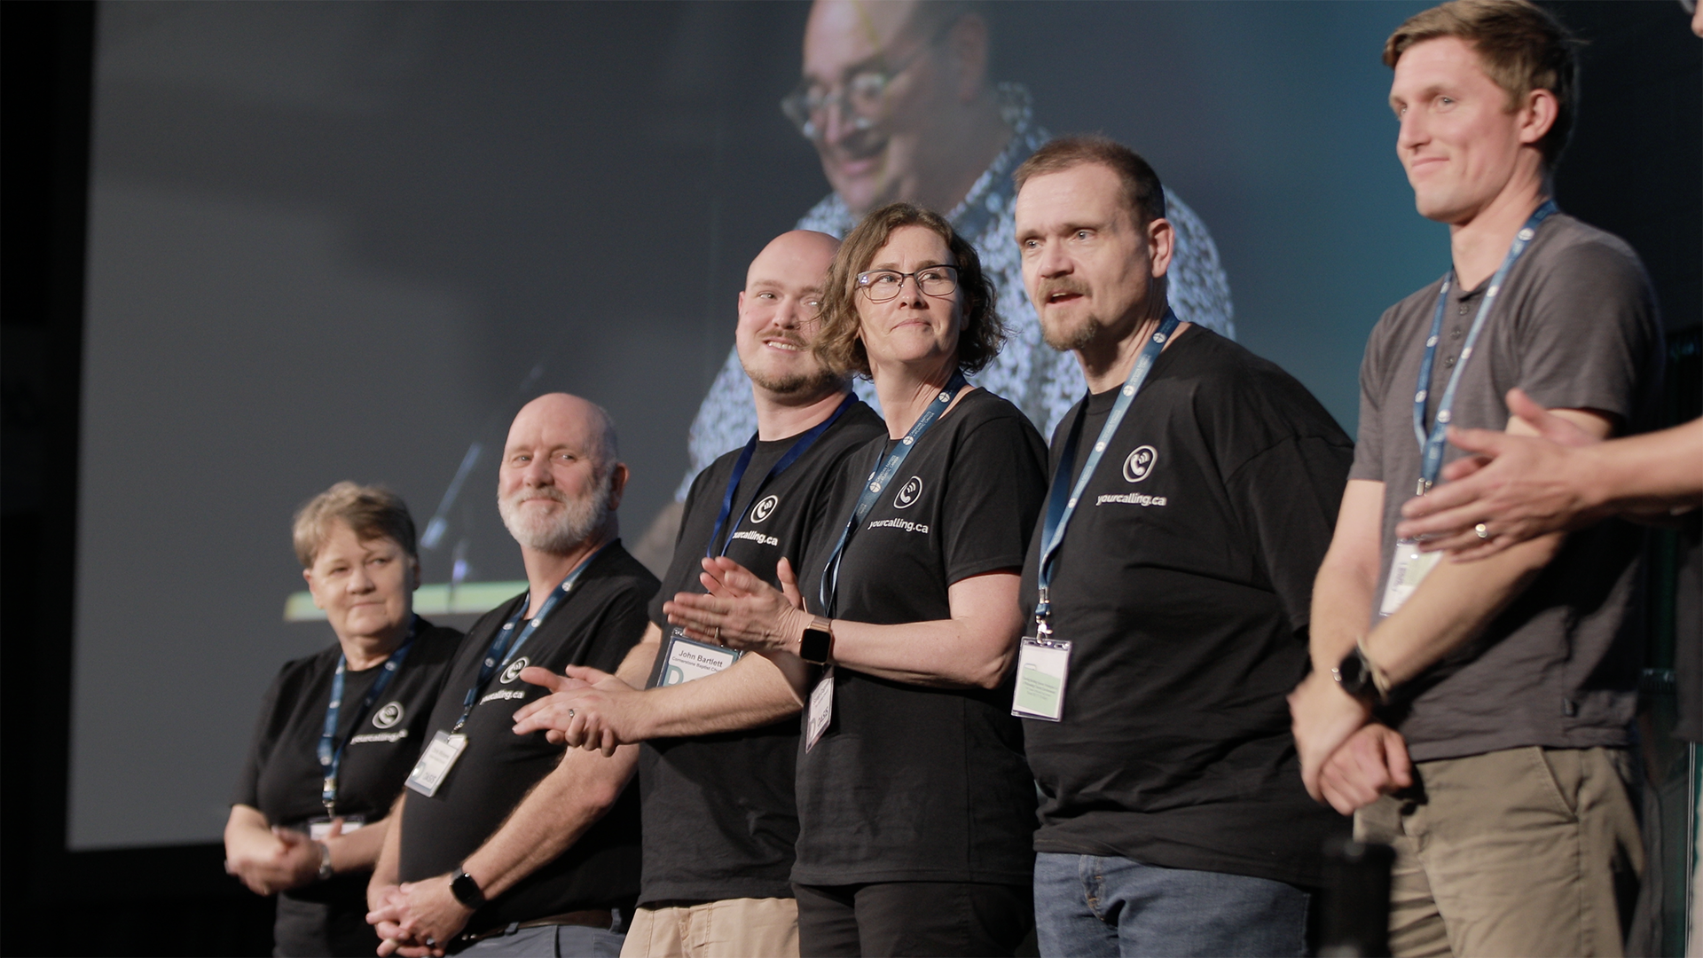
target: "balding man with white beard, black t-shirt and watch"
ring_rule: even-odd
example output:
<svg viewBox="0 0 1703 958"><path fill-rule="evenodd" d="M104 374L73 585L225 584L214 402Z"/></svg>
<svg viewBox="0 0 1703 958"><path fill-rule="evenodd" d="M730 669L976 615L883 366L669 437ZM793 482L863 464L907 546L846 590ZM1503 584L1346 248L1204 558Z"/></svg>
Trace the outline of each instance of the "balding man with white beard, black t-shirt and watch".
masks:
<svg viewBox="0 0 1703 958"><path fill-rule="evenodd" d="M644 634L657 580L618 539L616 455L608 413L576 395L540 395L509 426L497 510L530 588L473 624L433 711L368 888L380 955L620 951L639 893L637 747L564 755L513 731L545 694L523 668L625 677Z"/></svg>

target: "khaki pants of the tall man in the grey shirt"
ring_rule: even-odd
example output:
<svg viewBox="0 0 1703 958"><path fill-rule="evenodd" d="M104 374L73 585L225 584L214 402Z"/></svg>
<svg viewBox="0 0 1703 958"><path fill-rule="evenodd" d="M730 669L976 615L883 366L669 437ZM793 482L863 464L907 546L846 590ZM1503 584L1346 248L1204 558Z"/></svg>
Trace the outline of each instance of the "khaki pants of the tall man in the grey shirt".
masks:
<svg viewBox="0 0 1703 958"><path fill-rule="evenodd" d="M1620 958L1643 845L1623 748L1509 748L1415 764L1354 817L1395 845L1393 958Z"/></svg>

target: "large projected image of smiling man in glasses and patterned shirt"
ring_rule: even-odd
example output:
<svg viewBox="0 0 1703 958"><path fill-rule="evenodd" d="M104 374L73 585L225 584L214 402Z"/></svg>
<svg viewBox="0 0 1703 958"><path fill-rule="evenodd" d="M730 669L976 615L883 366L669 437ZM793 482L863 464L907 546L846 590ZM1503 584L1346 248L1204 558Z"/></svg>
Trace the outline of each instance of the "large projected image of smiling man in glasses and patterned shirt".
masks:
<svg viewBox="0 0 1703 958"><path fill-rule="evenodd" d="M896 199L945 215L981 254L1000 291L1008 339L976 384L1051 430L1081 394L1068 355L1041 343L1012 249L1012 170L1049 136L1018 84L988 73L993 24L971 0L817 0L804 31L797 89L782 102L814 147L833 193L799 228L846 235ZM1230 285L1199 216L1167 191L1177 234L1177 314L1235 336ZM874 402L874 389L858 385ZM737 353L729 353L691 424L691 474L751 435L754 413ZM688 477L690 482L690 477ZM679 489L685 496L686 486Z"/></svg>

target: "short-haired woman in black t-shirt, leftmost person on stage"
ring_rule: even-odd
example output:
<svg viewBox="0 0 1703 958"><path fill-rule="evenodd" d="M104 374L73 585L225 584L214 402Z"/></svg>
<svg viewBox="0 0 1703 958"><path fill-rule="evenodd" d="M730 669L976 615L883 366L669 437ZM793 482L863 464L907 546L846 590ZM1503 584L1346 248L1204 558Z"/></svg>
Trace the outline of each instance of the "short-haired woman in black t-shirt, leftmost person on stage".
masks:
<svg viewBox="0 0 1703 958"><path fill-rule="evenodd" d="M376 486L301 506L296 557L337 641L284 663L261 701L225 825L225 869L278 895L274 955L370 958L366 880L462 632L414 615L414 520Z"/></svg>

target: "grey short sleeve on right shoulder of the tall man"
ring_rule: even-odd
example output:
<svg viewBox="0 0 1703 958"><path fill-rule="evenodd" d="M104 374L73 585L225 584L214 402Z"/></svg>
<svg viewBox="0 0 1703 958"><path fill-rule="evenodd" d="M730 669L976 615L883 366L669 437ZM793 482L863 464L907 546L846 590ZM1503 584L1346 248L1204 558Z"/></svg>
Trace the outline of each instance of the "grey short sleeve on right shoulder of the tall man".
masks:
<svg viewBox="0 0 1703 958"><path fill-rule="evenodd" d="M1557 251L1519 310L1519 387L1540 406L1633 423L1660 327L1643 268L1608 240Z"/></svg>

